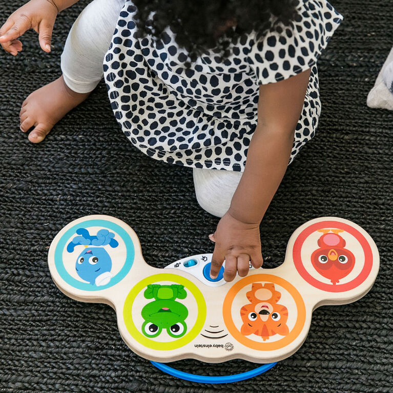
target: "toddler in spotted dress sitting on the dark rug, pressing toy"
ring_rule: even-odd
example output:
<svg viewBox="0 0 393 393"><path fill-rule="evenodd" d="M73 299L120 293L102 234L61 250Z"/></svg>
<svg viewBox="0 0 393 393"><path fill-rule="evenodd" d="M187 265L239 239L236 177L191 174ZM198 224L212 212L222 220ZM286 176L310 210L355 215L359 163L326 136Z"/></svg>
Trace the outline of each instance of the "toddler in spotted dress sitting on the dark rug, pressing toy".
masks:
<svg viewBox="0 0 393 393"><path fill-rule="evenodd" d="M0 29L16 55L33 28L50 52L56 15L77 0L31 0ZM318 124L316 62L342 16L325 0L93 0L61 55L63 75L31 93L20 128L40 142L104 73L128 139L193 168L203 209L221 217L211 276L262 265L259 225Z"/></svg>

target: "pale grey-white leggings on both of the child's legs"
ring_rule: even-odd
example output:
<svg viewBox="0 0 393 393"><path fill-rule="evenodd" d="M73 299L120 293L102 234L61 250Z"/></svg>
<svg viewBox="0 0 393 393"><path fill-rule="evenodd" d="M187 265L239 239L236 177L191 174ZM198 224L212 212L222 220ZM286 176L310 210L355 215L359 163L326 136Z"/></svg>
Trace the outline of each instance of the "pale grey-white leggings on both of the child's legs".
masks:
<svg viewBox="0 0 393 393"><path fill-rule="evenodd" d="M78 16L61 54L67 86L77 93L94 90L125 0L93 0ZM241 172L194 168L195 195L200 206L217 217L229 209Z"/></svg>

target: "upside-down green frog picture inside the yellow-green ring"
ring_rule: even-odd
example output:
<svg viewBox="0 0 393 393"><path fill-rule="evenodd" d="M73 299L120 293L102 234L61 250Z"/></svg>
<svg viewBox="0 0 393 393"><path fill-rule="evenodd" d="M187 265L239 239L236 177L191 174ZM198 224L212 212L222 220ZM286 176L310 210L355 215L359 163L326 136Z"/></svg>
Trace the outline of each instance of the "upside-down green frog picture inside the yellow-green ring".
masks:
<svg viewBox="0 0 393 393"><path fill-rule="evenodd" d="M184 320L188 317L188 309L175 299L185 299L187 292L184 285L150 284L143 293L146 299L154 299L141 311L144 319L142 333L149 337L157 337L162 329L167 329L171 337L182 337L187 332Z"/></svg>

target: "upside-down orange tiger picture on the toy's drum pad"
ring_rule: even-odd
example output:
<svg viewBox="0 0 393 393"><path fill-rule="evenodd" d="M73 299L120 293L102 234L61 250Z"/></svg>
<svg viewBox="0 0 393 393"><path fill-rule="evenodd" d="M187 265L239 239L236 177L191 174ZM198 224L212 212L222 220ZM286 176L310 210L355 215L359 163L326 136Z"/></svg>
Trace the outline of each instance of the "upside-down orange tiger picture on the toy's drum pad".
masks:
<svg viewBox="0 0 393 393"><path fill-rule="evenodd" d="M279 334L286 336L289 333L286 321L288 309L277 302L281 298L274 284L254 283L251 291L246 293L251 304L246 304L240 309L243 321L240 332L244 336L255 334L266 341L270 336Z"/></svg>

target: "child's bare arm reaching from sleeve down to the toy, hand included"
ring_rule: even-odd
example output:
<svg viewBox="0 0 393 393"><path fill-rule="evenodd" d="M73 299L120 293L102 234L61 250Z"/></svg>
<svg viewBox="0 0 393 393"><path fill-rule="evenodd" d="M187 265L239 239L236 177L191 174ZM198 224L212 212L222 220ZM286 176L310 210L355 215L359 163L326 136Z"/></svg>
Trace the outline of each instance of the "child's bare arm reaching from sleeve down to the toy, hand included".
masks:
<svg viewBox="0 0 393 393"><path fill-rule="evenodd" d="M259 224L286 171L296 124L303 108L310 70L274 84L261 85L258 125L252 137L243 175L231 207L215 234L211 276L225 259L224 279L247 275L249 261L262 265Z"/></svg>

